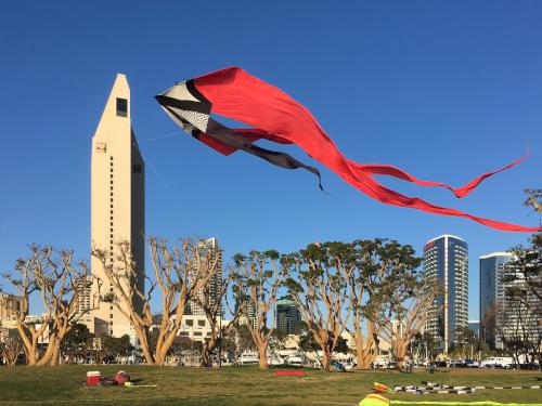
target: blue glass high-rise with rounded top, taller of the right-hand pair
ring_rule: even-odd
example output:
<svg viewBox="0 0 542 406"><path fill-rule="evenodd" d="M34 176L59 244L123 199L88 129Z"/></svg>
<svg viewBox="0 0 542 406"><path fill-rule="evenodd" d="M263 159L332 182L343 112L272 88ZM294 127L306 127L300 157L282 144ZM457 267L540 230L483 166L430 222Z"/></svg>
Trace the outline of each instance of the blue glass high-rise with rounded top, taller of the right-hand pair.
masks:
<svg viewBox="0 0 542 406"><path fill-rule="evenodd" d="M426 329L447 354L456 344L455 330L468 327L468 246L453 235L442 235L424 247L424 273L440 285Z"/></svg>

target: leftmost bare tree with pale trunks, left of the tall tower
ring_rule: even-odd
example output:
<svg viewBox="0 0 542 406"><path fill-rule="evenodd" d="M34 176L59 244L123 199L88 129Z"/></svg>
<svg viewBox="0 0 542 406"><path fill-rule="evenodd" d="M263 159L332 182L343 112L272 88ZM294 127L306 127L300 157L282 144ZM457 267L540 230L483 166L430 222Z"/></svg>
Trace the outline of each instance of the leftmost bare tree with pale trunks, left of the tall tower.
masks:
<svg viewBox="0 0 542 406"><path fill-rule="evenodd" d="M86 261L74 263L74 252L54 250L50 246L30 246L31 256L16 261L14 271L4 277L23 297L16 310L17 330L24 344L28 365L56 365L61 343L72 326L98 305L82 304L91 283ZM27 319L30 296L39 296L46 310L39 324ZM39 351L39 341L48 340L47 350Z"/></svg>

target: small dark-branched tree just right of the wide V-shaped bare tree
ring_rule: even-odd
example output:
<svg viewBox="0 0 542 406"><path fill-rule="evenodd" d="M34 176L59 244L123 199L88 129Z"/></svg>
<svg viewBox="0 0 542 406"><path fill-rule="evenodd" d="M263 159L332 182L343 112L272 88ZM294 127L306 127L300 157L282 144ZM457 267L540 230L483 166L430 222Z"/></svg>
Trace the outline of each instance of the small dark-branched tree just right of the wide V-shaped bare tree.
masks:
<svg viewBox="0 0 542 406"><path fill-rule="evenodd" d="M202 366L209 366L212 364L211 354L217 345L221 345L221 341L234 332L235 324L241 315L241 306L232 309L228 299L228 292L234 278L234 273L231 267L227 269L227 274L222 275L222 280L219 286L214 290L211 284L207 284L199 291L195 301L203 309L207 322L210 327L210 336L208 336L203 343L202 349ZM232 315L231 320L224 323L222 320L222 304L229 310Z"/></svg>

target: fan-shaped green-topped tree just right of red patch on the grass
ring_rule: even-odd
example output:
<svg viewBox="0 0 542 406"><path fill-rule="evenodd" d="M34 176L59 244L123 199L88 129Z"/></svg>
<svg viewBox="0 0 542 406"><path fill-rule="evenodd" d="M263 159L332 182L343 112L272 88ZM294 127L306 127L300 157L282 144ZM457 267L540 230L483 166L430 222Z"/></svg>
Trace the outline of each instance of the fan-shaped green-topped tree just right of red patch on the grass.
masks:
<svg viewBox="0 0 542 406"><path fill-rule="evenodd" d="M350 245L319 243L283 258L292 298L323 352L325 370L331 370L333 352L351 314L347 280L354 272L353 256Z"/></svg>

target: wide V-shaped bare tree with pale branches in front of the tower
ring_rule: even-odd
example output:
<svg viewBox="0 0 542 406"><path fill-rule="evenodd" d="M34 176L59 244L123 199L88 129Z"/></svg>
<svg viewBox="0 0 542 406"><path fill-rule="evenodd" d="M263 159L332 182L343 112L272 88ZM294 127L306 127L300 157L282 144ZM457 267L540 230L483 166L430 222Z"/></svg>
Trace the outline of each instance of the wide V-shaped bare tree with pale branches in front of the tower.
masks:
<svg viewBox="0 0 542 406"><path fill-rule="evenodd" d="M154 279L146 277L150 285L146 292L141 291L128 241L117 244L114 261L109 260L108 251L100 248L94 248L92 256L100 261L105 278L113 288L113 292L103 297L103 300L114 303L130 320L146 363L163 365L181 328L188 302L209 283L217 270L218 258L206 256L202 247L191 239L181 239L170 247L166 239L151 237L147 244ZM162 319L155 345L151 348L151 301L156 287L162 296ZM138 302L142 303L141 310Z"/></svg>

